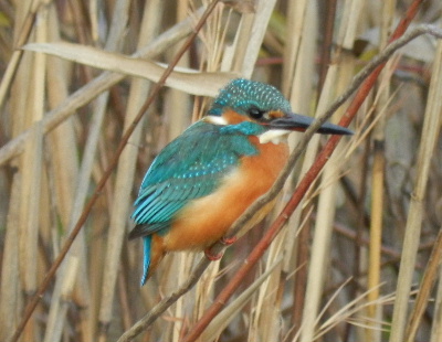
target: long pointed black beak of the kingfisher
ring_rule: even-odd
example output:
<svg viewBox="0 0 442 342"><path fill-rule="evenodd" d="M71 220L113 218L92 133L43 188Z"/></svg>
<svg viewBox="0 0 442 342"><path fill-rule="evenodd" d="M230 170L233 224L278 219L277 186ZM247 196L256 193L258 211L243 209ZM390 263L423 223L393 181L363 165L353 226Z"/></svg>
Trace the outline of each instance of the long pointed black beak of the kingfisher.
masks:
<svg viewBox="0 0 442 342"><path fill-rule="evenodd" d="M314 119L308 116L288 113L286 116L282 118L273 119L267 124L267 126L272 129L305 131L312 125L313 121ZM325 122L323 126L320 126L317 132L322 135L340 135L340 136L352 135L352 131L350 129L338 125L333 125L329 122Z"/></svg>

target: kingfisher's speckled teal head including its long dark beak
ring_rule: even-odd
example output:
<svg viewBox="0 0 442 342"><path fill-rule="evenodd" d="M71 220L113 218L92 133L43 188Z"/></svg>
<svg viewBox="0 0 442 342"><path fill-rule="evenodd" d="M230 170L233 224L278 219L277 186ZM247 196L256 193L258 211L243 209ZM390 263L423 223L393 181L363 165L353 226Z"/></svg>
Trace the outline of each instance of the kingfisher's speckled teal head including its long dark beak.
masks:
<svg viewBox="0 0 442 342"><path fill-rule="evenodd" d="M206 121L215 125L254 124L262 142L291 131L305 131L312 125L311 117L294 114L287 99L275 87L260 82L236 78L221 89L209 109ZM319 133L351 135L345 127L324 124ZM261 140L261 138L260 138Z"/></svg>

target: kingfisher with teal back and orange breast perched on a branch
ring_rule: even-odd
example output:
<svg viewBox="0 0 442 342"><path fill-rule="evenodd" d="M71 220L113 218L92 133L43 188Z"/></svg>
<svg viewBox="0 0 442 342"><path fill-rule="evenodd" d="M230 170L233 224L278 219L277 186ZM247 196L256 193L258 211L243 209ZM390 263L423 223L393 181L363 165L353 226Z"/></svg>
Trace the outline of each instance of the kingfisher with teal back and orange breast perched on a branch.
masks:
<svg viewBox="0 0 442 342"><path fill-rule="evenodd" d="M167 145L146 172L128 238L143 238L141 286L164 256L207 250L275 182L288 159L287 136L313 122L294 114L274 86L245 78L229 82L199 121ZM319 133L351 135L325 122ZM257 223L273 203L255 214ZM233 239L224 239L225 244Z"/></svg>

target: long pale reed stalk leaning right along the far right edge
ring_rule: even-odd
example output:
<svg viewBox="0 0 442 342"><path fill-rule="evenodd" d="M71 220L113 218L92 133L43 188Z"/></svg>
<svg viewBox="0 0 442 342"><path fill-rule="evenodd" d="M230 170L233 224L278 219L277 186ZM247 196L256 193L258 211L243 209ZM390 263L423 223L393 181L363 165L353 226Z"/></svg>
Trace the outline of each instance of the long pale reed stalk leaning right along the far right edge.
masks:
<svg viewBox="0 0 442 342"><path fill-rule="evenodd" d="M404 341L408 303L410 299L411 281L421 235L422 217L424 213L424 196L429 178L431 157L436 143L440 117L442 110L442 44L438 50L432 68L432 77L427 101L425 115L418 154L418 172L413 188L410 210L407 218L406 236L402 247L402 258L399 269L397 297L394 301L391 323L390 342Z"/></svg>

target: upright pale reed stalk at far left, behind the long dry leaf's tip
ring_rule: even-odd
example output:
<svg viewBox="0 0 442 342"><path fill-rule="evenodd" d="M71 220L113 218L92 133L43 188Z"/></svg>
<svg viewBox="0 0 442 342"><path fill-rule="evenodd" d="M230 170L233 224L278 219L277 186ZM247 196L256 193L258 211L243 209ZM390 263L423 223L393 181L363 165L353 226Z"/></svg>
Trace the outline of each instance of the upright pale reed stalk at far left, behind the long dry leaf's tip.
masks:
<svg viewBox="0 0 442 342"><path fill-rule="evenodd" d="M48 10L38 13L41 23L34 31L32 40L42 42L46 40L46 18ZM25 152L21 160L22 170L22 191L21 191L21 212L20 212L20 270L22 275L22 288L25 293L33 293L36 289L39 258L38 242L40 229L40 211L48 210L41 206L41 182L43 172L43 131L41 118L44 104L44 83L45 83L45 58L44 54L30 56L25 65L29 74L21 73L20 82L27 84L27 89L22 92L21 98L25 104L25 116L21 129L35 122L32 128L31 139L28 141ZM23 61L23 60L22 60ZM24 70L22 70L24 71ZM30 79L25 77L31 76ZM39 325L35 322L28 325L24 335L30 338L38 332Z"/></svg>

